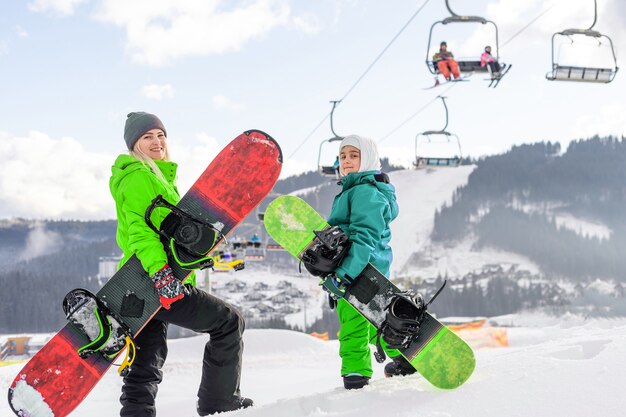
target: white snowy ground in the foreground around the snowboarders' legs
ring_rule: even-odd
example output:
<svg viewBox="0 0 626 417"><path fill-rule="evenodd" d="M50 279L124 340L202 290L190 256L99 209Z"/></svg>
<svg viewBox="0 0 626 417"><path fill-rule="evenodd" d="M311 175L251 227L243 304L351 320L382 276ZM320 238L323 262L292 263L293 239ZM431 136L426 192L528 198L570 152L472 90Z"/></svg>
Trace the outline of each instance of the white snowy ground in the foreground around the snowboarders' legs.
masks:
<svg viewBox="0 0 626 417"><path fill-rule="evenodd" d="M385 379L374 362L368 387L346 391L336 341L286 330L249 330L241 389L255 407L225 414L246 417L618 417L626 410L626 319L583 321L509 315L510 346L476 352L470 380L453 391L419 375ZM171 340L159 416L195 416L204 336ZM21 365L0 368L0 390ZM111 370L73 416L110 417L119 410L121 379ZM12 415L5 401L0 415Z"/></svg>

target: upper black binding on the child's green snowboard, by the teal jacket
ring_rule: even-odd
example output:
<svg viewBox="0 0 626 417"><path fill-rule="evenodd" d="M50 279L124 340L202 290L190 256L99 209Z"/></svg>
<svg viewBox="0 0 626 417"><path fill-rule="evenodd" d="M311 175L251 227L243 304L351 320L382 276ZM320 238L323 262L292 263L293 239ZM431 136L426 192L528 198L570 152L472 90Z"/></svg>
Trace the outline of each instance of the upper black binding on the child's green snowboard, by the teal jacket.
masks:
<svg viewBox="0 0 626 417"><path fill-rule="evenodd" d="M323 277L335 272L350 250L350 240L338 226L313 233L315 240L302 255L301 263L311 275Z"/></svg>

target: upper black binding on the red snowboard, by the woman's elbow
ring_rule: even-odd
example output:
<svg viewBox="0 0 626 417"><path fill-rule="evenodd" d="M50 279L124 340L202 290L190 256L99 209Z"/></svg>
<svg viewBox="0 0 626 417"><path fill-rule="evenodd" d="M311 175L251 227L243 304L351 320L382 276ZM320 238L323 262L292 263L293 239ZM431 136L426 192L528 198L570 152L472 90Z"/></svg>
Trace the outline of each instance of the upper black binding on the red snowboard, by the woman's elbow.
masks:
<svg viewBox="0 0 626 417"><path fill-rule="evenodd" d="M150 219L150 215L157 207L170 210L170 214L163 219L160 230ZM224 239L224 235L216 226L194 218L165 200L160 194L152 200L144 218L146 224L161 236L164 246L182 268L191 270L213 267L213 258L206 254L217 241Z"/></svg>

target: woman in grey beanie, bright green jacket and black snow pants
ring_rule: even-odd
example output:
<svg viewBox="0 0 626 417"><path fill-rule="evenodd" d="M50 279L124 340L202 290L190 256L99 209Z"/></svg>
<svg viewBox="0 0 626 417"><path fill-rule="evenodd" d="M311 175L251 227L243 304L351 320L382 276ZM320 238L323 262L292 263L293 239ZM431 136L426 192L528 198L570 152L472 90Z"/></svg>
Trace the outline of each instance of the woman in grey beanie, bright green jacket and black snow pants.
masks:
<svg viewBox="0 0 626 417"><path fill-rule="evenodd" d="M122 417L153 417L161 368L167 357L167 327L173 323L208 333L204 349L197 410L201 416L252 405L240 395L242 334L241 314L228 303L195 288L192 274L181 283L174 278L167 253L144 215L161 194L172 204L180 196L175 185L177 165L169 160L167 132L161 120L150 113L129 113L124 128L129 153L119 155L111 168L109 186L117 211L117 243L123 252L120 265L136 255L155 287L161 308L135 338L136 356L124 377L120 402ZM168 214L165 208L152 212L156 227Z"/></svg>

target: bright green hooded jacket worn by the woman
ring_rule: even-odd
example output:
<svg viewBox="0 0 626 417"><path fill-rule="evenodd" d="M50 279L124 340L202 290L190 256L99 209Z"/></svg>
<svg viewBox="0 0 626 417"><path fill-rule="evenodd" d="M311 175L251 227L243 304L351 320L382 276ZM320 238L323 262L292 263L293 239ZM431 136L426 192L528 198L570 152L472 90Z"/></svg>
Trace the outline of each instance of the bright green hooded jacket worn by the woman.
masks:
<svg viewBox="0 0 626 417"><path fill-rule="evenodd" d="M159 236L146 224L144 215L152 200L159 194L172 204L180 200L174 185L178 165L174 162L154 161L166 181L150 167L130 155L119 155L111 167L109 188L117 211L117 244L124 253L119 266L132 255L137 255L141 265L152 276L167 262L167 254ZM150 217L159 227L169 210L156 208ZM192 274L185 281L195 284Z"/></svg>

